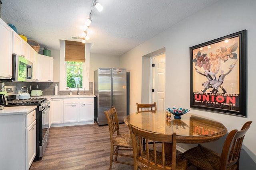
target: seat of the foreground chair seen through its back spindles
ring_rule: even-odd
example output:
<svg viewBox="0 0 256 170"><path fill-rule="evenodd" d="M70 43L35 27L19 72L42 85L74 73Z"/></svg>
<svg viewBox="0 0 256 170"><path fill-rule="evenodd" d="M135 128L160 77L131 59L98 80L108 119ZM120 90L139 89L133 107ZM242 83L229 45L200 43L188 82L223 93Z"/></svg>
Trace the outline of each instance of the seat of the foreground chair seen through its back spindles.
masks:
<svg viewBox="0 0 256 170"><path fill-rule="evenodd" d="M150 162L154 162L154 151L149 150ZM162 152L156 151L156 164L162 165ZM147 152L143 152L143 158L147 161ZM166 166L172 166L172 156L165 154L165 164ZM187 167L187 162L185 160L176 157L176 170L184 170ZM155 170L154 168L147 167L145 165L140 165L139 170Z"/></svg>

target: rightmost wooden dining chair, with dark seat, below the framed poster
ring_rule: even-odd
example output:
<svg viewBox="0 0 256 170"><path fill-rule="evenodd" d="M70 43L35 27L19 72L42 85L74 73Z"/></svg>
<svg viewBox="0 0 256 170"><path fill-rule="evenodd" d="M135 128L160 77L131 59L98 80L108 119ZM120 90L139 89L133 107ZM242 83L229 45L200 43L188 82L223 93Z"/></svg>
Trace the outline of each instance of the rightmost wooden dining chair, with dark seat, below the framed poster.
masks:
<svg viewBox="0 0 256 170"><path fill-rule="evenodd" d="M230 131L221 154L198 145L184 152L182 157L200 170L238 170L242 143L251 123L252 121L246 122L240 131Z"/></svg>

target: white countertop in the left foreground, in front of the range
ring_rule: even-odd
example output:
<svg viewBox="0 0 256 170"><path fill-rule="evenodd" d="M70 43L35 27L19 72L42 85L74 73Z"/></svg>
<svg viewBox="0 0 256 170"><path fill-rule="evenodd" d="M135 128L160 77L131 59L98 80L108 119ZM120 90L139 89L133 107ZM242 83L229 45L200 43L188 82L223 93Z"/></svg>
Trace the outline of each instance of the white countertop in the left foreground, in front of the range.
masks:
<svg viewBox="0 0 256 170"><path fill-rule="evenodd" d="M37 106L12 106L4 107L0 110L0 116L2 115L18 115L18 114L27 114L36 109Z"/></svg>

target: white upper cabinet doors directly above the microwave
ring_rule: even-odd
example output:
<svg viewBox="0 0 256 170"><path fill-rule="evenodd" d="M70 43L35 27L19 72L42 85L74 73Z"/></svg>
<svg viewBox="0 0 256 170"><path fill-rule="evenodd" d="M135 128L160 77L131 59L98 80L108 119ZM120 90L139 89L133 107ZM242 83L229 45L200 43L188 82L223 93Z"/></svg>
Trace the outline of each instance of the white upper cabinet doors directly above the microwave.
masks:
<svg viewBox="0 0 256 170"><path fill-rule="evenodd" d="M12 53L25 57L30 61L30 45L13 31Z"/></svg>

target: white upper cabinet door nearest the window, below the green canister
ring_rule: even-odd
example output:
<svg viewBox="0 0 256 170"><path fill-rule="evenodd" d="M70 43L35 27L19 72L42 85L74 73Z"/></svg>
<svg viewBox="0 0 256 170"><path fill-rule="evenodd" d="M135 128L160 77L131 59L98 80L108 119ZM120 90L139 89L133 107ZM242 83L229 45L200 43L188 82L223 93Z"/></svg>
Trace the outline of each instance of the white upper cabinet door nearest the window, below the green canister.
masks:
<svg viewBox="0 0 256 170"><path fill-rule="evenodd" d="M52 82L53 58L40 55L40 82Z"/></svg>

